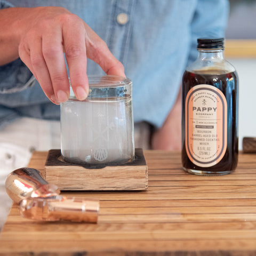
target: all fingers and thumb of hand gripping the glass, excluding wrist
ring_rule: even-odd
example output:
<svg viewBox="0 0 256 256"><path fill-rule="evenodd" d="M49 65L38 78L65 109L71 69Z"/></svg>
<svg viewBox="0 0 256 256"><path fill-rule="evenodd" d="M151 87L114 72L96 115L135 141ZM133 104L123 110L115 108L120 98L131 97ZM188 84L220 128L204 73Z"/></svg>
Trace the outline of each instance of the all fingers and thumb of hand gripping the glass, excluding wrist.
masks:
<svg viewBox="0 0 256 256"><path fill-rule="evenodd" d="M63 50L78 100L84 100L89 93L87 57L97 62L107 75L125 77L122 63L111 54L106 43L76 15L66 9L58 10L61 13L58 17L52 9L48 19L41 15L42 22L37 21L38 26L30 27L19 45L21 60L34 74L46 96L55 104L69 98Z"/></svg>

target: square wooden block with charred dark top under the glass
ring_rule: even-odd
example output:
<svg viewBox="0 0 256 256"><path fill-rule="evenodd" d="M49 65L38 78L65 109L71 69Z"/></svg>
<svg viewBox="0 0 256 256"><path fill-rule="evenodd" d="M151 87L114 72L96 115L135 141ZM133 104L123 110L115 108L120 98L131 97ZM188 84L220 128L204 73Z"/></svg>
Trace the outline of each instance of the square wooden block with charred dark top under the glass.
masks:
<svg viewBox="0 0 256 256"><path fill-rule="evenodd" d="M60 149L48 152L42 176L60 190L146 190L148 166L143 150L135 149L135 160L93 169L92 165L63 162Z"/></svg>

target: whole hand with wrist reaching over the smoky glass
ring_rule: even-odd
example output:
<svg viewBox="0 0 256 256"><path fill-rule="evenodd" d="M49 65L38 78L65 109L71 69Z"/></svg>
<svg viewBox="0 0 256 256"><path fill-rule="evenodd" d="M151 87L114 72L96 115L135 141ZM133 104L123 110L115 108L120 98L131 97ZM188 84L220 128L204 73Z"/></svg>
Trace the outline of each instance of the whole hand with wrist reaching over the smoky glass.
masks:
<svg viewBox="0 0 256 256"><path fill-rule="evenodd" d="M0 17L0 65L20 57L53 103L69 98L63 52L78 100L89 92L87 58L97 62L107 75L125 76L122 63L106 43L82 19L62 7L13 7L0 10Z"/></svg>

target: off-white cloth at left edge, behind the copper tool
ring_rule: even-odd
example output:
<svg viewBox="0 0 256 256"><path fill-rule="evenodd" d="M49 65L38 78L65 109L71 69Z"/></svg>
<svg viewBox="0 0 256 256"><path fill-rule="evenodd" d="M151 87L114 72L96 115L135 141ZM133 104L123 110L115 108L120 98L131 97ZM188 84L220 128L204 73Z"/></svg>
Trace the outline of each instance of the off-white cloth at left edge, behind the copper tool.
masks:
<svg viewBox="0 0 256 256"><path fill-rule="evenodd" d="M6 194L7 175L28 165L34 150L60 148L60 123L23 117L0 131L0 230L12 201Z"/></svg>

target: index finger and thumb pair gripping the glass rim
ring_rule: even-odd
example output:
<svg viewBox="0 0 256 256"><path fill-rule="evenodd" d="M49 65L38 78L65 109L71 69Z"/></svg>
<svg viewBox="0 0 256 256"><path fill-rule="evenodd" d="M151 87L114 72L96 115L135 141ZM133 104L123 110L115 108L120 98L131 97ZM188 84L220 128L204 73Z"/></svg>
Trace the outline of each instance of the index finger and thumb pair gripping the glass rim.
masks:
<svg viewBox="0 0 256 256"><path fill-rule="evenodd" d="M107 44L86 23L74 21L63 26L63 44L73 91L78 100L84 100L89 93L87 57L98 63L107 75L125 77L125 74L122 63L109 51Z"/></svg>

